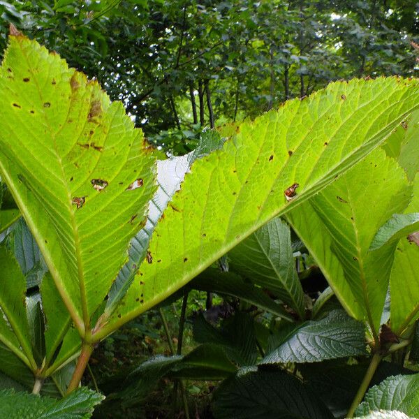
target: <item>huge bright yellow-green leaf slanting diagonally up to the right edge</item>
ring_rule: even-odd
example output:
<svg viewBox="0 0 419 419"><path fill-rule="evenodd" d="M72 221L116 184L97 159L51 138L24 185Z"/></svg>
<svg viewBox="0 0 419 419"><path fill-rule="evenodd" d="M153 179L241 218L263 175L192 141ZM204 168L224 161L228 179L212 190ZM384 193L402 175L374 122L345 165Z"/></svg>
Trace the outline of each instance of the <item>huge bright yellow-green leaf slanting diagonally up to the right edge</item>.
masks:
<svg viewBox="0 0 419 419"><path fill-rule="evenodd" d="M191 166L156 227L149 257L96 339L353 166L418 106L417 90L416 80L337 82L240 126L223 149ZM294 183L299 193L287 202L284 191Z"/></svg>

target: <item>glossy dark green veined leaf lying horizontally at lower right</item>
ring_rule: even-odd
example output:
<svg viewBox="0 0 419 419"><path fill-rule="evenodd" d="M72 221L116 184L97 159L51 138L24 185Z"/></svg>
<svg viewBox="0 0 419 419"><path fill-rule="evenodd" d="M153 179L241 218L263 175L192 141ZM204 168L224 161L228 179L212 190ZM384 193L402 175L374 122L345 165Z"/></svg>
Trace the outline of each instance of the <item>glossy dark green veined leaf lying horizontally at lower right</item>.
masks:
<svg viewBox="0 0 419 419"><path fill-rule="evenodd" d="M366 353L364 325L336 310L320 321L302 323L261 363L320 362Z"/></svg>

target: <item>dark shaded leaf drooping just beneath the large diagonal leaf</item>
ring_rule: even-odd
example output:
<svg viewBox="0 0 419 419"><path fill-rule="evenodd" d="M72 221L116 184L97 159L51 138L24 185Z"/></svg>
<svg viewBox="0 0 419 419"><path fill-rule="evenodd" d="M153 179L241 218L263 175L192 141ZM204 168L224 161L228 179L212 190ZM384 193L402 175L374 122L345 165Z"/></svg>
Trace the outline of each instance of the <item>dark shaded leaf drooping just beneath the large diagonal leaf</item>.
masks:
<svg viewBox="0 0 419 419"><path fill-rule="evenodd" d="M240 298L276 316L293 321L293 317L284 307L274 302L263 290L245 282L242 277L233 272L221 272L219 269L209 267L193 279L190 286L200 291Z"/></svg>

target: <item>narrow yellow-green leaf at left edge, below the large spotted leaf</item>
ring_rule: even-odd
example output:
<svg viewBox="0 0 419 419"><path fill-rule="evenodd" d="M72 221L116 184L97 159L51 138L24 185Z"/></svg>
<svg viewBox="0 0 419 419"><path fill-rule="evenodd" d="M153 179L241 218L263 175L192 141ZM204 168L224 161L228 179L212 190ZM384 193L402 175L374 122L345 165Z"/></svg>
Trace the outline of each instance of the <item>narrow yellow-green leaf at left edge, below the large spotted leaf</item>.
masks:
<svg viewBox="0 0 419 419"><path fill-rule="evenodd" d="M0 339L36 369L25 307L26 283L16 260L3 246L0 246L0 266Z"/></svg>

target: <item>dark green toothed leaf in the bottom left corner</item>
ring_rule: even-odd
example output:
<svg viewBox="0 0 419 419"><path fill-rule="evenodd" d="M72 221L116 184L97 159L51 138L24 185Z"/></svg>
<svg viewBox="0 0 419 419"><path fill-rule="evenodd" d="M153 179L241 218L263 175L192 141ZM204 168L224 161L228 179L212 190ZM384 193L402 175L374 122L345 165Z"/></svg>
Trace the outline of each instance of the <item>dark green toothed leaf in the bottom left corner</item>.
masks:
<svg viewBox="0 0 419 419"><path fill-rule="evenodd" d="M2 390L1 414L10 419L85 419L104 397L88 388L78 388L64 399L39 397L25 392Z"/></svg>

